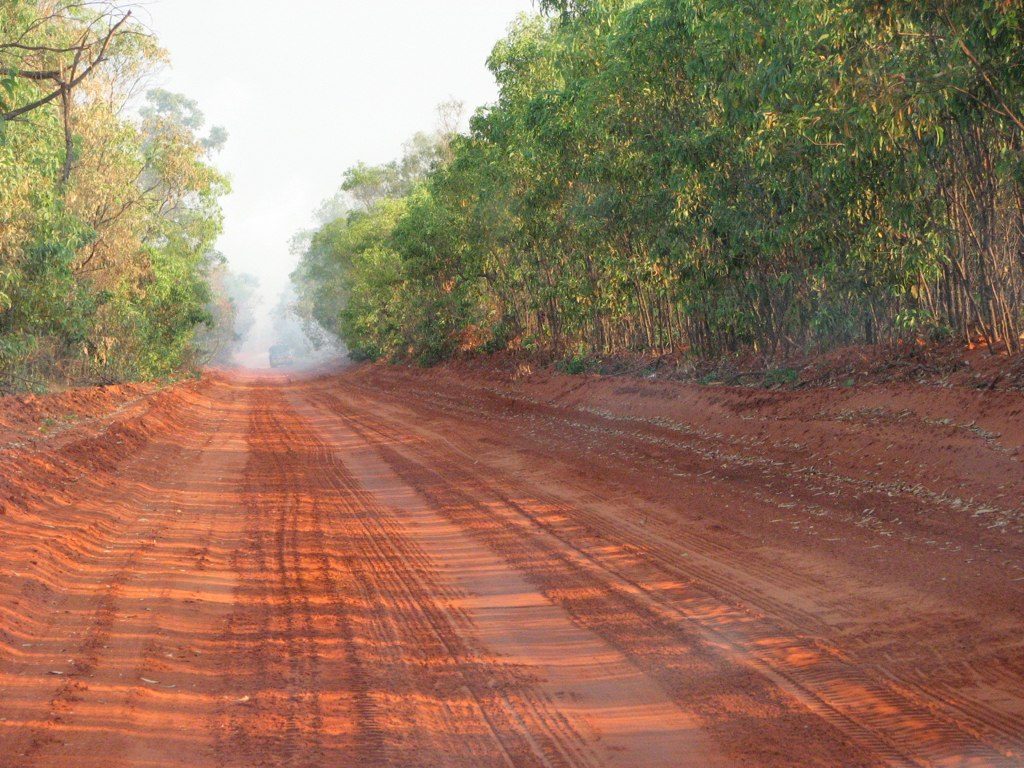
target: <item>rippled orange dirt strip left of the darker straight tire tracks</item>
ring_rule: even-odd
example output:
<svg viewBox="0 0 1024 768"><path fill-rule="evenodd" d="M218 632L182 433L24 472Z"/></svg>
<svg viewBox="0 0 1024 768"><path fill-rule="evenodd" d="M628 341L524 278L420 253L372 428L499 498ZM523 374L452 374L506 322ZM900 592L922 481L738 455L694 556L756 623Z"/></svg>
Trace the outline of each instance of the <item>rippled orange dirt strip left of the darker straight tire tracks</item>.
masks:
<svg viewBox="0 0 1024 768"><path fill-rule="evenodd" d="M179 387L13 467L25 471L0 553L5 768L204 751L210 633L231 594L218 560L231 542L238 396L224 382Z"/></svg>

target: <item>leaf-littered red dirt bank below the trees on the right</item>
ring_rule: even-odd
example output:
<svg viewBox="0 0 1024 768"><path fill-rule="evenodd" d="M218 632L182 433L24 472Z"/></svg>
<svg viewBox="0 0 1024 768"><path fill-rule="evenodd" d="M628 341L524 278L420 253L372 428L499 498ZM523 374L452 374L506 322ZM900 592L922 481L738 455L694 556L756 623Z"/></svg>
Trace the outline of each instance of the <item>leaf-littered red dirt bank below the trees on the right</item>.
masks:
<svg viewBox="0 0 1024 768"><path fill-rule="evenodd" d="M944 508L969 511L978 521L972 527L998 534L1024 525L1018 391L895 382L766 390L480 365L368 367L355 377L382 388L400 381L465 393L499 409L571 413L621 425L622 436L647 435L651 446L659 437L690 437L712 463L722 453L725 465L774 465L776 474L873 488L891 500L887 506L916 498L937 505L935 517Z"/></svg>

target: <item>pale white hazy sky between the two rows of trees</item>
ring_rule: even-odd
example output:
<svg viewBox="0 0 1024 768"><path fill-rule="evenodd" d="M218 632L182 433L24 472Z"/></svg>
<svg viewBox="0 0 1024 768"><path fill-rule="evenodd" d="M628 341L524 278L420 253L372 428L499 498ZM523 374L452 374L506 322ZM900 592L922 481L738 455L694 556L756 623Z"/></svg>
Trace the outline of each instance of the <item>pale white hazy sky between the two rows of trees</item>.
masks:
<svg viewBox="0 0 1024 768"><path fill-rule="evenodd" d="M485 61L530 0L148 0L136 11L171 56L158 84L199 101L229 134L231 178L218 248L257 274L265 301L287 283L289 240L342 171L381 163L435 108L471 112L497 89Z"/></svg>

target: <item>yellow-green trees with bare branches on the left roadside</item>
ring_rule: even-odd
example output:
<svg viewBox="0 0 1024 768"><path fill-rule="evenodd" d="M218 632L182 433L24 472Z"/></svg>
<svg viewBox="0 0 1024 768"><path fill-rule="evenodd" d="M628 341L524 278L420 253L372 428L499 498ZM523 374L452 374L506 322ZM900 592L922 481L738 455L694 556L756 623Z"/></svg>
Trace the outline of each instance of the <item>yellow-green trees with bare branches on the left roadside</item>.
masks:
<svg viewBox="0 0 1024 768"><path fill-rule="evenodd" d="M164 376L232 334L224 134L138 93L163 58L113 3L0 0L0 389Z"/></svg>

